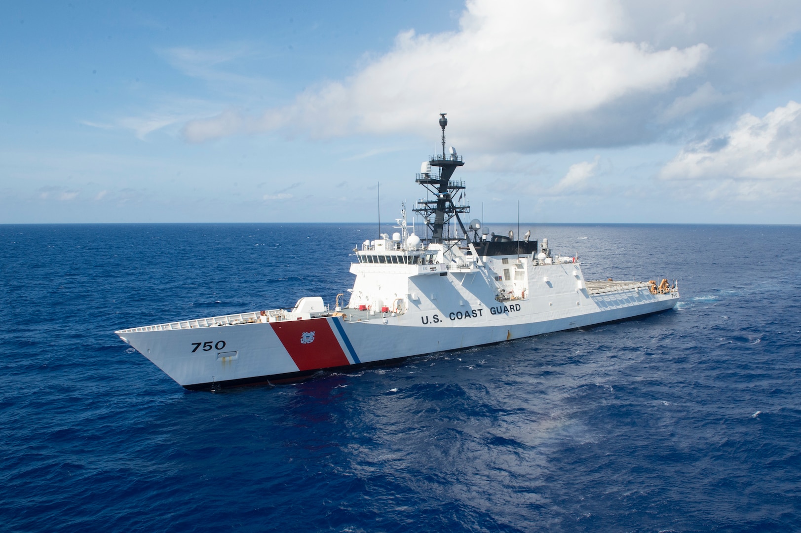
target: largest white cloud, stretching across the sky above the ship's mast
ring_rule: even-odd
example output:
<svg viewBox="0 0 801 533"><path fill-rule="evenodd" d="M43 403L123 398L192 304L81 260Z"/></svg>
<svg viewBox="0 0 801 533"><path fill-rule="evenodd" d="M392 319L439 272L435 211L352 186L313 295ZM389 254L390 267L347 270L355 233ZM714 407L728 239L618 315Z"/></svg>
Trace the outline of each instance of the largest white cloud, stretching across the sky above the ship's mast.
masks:
<svg viewBox="0 0 801 533"><path fill-rule="evenodd" d="M431 129L442 108L458 121L457 142L469 147L536 151L619 142L605 135L615 127L602 119L610 107L669 90L698 71L709 52L702 42L654 50L619 40L625 20L614 0L471 0L456 32L405 31L349 79L304 91L259 119L227 111L191 121L184 135L202 142L276 129L417 134Z"/></svg>

